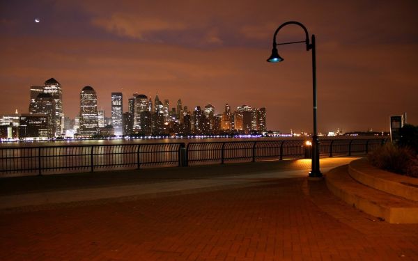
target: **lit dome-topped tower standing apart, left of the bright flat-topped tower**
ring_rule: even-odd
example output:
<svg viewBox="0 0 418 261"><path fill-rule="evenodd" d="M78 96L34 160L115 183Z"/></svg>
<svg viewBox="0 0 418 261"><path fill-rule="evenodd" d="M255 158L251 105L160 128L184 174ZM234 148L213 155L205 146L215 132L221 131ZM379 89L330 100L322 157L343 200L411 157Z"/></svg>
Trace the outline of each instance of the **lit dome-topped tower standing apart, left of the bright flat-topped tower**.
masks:
<svg viewBox="0 0 418 261"><path fill-rule="evenodd" d="M98 133L98 97L91 86L86 86L80 93L80 135L91 137Z"/></svg>

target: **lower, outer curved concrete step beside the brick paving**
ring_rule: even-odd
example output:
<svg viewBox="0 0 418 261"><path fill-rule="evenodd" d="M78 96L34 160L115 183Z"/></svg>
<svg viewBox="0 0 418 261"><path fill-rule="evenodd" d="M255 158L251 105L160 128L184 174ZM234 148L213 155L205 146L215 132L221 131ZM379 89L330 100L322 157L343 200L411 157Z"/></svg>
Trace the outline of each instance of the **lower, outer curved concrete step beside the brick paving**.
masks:
<svg viewBox="0 0 418 261"><path fill-rule="evenodd" d="M333 168L327 187L346 203L389 223L418 223L418 203L366 187L348 174L348 165Z"/></svg>

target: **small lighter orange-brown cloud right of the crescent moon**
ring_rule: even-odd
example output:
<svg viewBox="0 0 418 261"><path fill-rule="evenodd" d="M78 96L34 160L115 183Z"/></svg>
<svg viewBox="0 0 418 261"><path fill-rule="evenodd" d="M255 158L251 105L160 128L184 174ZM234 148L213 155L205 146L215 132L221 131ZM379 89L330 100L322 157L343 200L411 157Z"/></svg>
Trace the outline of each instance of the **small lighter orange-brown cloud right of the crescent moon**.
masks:
<svg viewBox="0 0 418 261"><path fill-rule="evenodd" d="M96 17L91 21L110 33L144 40L147 33L157 31L182 31L187 29L183 22L169 22L159 18L141 17L127 13L114 13L110 18Z"/></svg>

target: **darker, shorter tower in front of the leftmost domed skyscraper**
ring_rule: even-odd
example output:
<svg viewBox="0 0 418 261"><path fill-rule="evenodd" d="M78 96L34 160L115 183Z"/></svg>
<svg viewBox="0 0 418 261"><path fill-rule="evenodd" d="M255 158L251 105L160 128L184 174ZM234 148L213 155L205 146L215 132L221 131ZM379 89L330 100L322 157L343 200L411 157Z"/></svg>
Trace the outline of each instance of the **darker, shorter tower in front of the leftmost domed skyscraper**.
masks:
<svg viewBox="0 0 418 261"><path fill-rule="evenodd" d="M52 138L56 133L56 113L55 100L49 93L39 93L34 102L29 106L30 114L46 115L47 130L45 130L48 138Z"/></svg>

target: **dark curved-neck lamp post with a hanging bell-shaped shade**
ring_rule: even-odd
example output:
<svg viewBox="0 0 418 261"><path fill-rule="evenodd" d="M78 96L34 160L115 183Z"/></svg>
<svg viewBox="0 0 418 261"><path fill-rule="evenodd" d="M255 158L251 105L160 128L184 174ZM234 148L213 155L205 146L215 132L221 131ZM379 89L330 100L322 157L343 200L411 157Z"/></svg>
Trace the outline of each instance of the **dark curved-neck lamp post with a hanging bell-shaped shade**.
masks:
<svg viewBox="0 0 418 261"><path fill-rule="evenodd" d="M296 24L300 27L302 27L304 33L305 33L305 40L304 41L297 41L297 42L276 42L276 35L282 29L284 26L288 24ZM273 49L272 49L272 55L270 58L267 59L269 63L278 63L281 61L284 61L284 58L281 58L279 56L279 53L277 52L277 45L291 45L296 43L302 43L304 42L307 45L307 51L312 50L312 86L313 86L313 100L314 100L314 135L312 136L312 169L311 172L309 172L309 177L322 177L322 173L320 173L319 170L319 140L318 140L318 132L316 130L316 55L315 55L315 35L312 35L311 42L309 42L309 33L307 28L301 24L300 22L290 21L285 22L284 24L281 24L279 28L276 29L273 36Z"/></svg>

